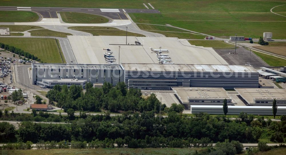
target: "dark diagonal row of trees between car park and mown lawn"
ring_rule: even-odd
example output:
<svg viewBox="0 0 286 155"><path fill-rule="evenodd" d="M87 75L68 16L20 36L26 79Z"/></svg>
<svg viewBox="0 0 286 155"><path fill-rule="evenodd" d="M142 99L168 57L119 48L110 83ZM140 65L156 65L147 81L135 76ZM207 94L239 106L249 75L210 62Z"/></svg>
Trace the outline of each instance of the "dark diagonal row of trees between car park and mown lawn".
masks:
<svg viewBox="0 0 286 155"><path fill-rule="evenodd" d="M0 42L0 47L10 51L12 53L18 54L20 56L24 56L26 58L32 59L32 60L36 60L38 62L42 62L41 59L39 59L37 56L34 56L34 54L30 54L29 52L25 52L24 50L20 49L20 48L16 48L14 46L8 45L8 44L4 44Z"/></svg>

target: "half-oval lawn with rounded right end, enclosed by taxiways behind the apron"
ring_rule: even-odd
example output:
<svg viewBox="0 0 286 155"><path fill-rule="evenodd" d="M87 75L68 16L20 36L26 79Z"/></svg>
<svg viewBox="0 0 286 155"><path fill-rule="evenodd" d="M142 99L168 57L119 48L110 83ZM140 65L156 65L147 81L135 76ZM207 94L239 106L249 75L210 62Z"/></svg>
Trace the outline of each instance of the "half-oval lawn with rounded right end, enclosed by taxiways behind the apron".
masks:
<svg viewBox="0 0 286 155"><path fill-rule="evenodd" d="M79 12L59 12L66 23L107 23L106 17Z"/></svg>

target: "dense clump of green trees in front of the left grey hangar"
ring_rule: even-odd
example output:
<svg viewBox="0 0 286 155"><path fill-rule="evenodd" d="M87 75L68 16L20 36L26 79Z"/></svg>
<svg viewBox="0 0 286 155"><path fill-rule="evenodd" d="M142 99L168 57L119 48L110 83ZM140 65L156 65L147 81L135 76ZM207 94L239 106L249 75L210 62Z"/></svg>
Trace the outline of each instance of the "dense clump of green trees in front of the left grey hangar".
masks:
<svg viewBox="0 0 286 155"><path fill-rule="evenodd" d="M159 113L166 105L160 104L155 94L146 99L142 98L140 89L127 89L124 82L112 87L110 83L104 83L102 88L94 88L91 83L86 84L86 92L83 93L81 86L56 85L46 97L50 104L62 107L66 112L68 109L78 111L155 111ZM176 109L177 110L177 109Z"/></svg>

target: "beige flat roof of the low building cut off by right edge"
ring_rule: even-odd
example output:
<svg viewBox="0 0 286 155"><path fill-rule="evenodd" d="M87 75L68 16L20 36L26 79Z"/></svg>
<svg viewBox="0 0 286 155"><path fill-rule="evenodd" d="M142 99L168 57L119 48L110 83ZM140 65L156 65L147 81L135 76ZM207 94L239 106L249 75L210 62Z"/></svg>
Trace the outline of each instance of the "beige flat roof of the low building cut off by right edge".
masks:
<svg viewBox="0 0 286 155"><path fill-rule="evenodd" d="M235 88L235 91L249 104L255 104L255 99L286 100L286 89L278 88Z"/></svg>

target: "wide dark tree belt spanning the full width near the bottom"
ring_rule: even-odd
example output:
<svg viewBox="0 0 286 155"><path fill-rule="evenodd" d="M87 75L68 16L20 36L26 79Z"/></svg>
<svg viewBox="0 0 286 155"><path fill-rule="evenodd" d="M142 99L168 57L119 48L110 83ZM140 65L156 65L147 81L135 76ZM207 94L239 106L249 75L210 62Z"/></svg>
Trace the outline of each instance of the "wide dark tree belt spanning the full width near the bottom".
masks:
<svg viewBox="0 0 286 155"><path fill-rule="evenodd" d="M31 113L30 117L43 116L43 114ZM173 141L174 144L168 144L166 147L170 145L172 147L187 147L186 144L195 146L195 144L224 142L225 139L230 142L242 143L256 143L259 139L268 139L271 142L279 143L286 140L286 121L276 122L271 119L265 121L263 117L254 120L252 115L246 113L241 113L236 120L229 120L222 116L212 117L204 113L189 117L186 114L170 112L168 117L164 118L155 117L154 111L133 114L125 112L114 117L110 117L109 113L104 115L81 113L70 122L44 124L23 121L18 130L8 123L0 123L0 142L31 141L36 143L41 140L45 142L63 140L91 142L97 139L102 141L108 138L115 141L121 138L125 140L124 144L133 141L130 145L136 147L142 147L142 140L147 140L144 142L147 144L149 141L156 142L154 147L162 147L158 144L170 141ZM153 144L146 147L153 147Z"/></svg>

